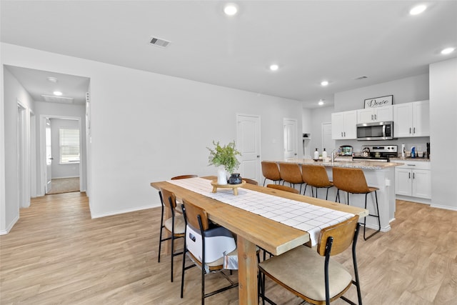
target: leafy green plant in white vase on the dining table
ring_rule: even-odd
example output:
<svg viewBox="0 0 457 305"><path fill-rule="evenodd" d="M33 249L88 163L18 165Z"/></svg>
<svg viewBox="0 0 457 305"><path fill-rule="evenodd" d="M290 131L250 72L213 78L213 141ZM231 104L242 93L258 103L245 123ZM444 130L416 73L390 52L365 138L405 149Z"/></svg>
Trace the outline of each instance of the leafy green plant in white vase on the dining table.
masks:
<svg viewBox="0 0 457 305"><path fill-rule="evenodd" d="M238 169L240 161L236 159L236 156L241 156L240 152L235 148L235 141L231 141L229 144L221 146L219 141L213 141L214 149L206 147L209 150L209 165L224 166L224 169L229 174L233 174L233 171ZM224 172L226 177L226 173ZM218 184L227 184L227 179L223 179L223 174L218 172Z"/></svg>

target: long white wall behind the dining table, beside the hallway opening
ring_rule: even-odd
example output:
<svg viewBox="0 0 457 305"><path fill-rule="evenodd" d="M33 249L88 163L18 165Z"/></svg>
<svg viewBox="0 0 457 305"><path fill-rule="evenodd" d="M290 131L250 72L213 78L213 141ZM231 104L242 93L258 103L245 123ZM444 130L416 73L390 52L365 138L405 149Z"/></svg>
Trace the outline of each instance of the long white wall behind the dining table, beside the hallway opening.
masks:
<svg viewBox="0 0 457 305"><path fill-rule="evenodd" d="M284 117L297 119L301 130L299 101L11 44L1 47L2 64L91 79L93 217L159 206L151 181L215 174L207 166L206 146L236 139L237 113L261 116L261 159L282 158Z"/></svg>

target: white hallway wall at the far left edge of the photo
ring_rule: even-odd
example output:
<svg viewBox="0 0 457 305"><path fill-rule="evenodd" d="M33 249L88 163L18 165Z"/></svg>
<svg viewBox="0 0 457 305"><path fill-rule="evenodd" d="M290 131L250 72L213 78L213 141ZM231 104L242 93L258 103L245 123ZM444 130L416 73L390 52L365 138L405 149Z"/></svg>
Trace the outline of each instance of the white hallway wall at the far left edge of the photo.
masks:
<svg viewBox="0 0 457 305"><path fill-rule="evenodd" d="M2 51L2 56L4 52ZM2 66L3 67L3 66ZM17 104L21 103L26 108L26 124L30 126L30 112L34 111L34 101L30 94L19 84L6 67L2 70L4 82L4 94L1 96L0 108L4 110L2 124L4 125L4 189L1 204L1 227L0 234L7 233L19 219L19 186L18 186L18 152L17 152ZM4 191L4 192L3 192Z"/></svg>

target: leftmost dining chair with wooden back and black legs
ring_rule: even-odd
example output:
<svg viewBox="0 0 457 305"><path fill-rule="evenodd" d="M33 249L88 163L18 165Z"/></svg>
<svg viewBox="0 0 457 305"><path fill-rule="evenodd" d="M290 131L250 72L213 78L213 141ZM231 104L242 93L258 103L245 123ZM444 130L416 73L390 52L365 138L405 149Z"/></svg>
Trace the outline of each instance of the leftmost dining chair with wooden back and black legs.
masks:
<svg viewBox="0 0 457 305"><path fill-rule="evenodd" d="M174 241L176 239L184 238L186 223L184 221L183 214L176 213L176 196L174 193L166 189L160 189L159 196L162 204L162 216L160 219L159 255L157 261L160 263L162 242L171 241L171 281L173 282L174 256L183 254L182 251L175 252ZM165 219L165 209L169 209L169 212L171 213L171 217L169 219ZM168 232L169 236L163 236L164 229Z"/></svg>

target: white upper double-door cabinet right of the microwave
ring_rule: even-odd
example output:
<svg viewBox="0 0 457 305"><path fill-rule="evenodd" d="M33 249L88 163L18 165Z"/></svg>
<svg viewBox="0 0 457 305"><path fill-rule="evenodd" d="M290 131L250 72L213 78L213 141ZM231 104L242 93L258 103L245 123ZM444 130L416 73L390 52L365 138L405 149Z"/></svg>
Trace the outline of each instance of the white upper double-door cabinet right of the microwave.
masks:
<svg viewBox="0 0 457 305"><path fill-rule="evenodd" d="M430 136L429 106L429 101L393 105L393 136Z"/></svg>

